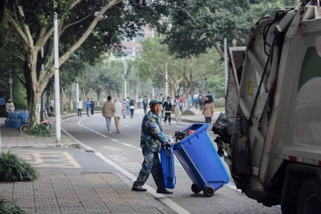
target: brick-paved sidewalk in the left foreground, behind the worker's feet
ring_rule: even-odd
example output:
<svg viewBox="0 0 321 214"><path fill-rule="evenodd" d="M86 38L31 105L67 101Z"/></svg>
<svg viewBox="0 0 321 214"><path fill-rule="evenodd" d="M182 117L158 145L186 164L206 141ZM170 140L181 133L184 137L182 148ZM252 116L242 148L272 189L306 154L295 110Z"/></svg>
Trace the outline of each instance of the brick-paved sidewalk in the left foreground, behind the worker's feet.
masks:
<svg viewBox="0 0 321 214"><path fill-rule="evenodd" d="M114 173L45 171L32 182L0 183L0 195L28 213L165 213Z"/></svg>

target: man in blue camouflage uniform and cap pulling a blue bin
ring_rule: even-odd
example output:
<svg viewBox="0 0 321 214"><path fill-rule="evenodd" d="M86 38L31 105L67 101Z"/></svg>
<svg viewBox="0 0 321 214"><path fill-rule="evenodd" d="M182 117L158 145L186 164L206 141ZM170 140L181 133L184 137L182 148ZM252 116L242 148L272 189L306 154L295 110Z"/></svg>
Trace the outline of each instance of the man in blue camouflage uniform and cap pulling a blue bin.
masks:
<svg viewBox="0 0 321 214"><path fill-rule="evenodd" d="M140 147L144 160L137 180L133 183L131 189L133 191L146 191L142 185L144 185L151 173L157 186L156 192L172 194L164 186L162 165L158 157L158 153L161 152L161 146L171 145L171 142L162 132L162 101L153 99L149 102L149 107L150 111L147 112L141 123Z"/></svg>

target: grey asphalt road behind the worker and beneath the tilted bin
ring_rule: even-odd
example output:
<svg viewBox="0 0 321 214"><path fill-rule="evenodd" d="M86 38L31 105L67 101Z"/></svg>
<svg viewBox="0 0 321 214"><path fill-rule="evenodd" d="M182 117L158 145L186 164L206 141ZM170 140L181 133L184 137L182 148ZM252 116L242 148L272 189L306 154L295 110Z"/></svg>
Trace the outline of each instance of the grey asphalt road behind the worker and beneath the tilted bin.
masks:
<svg viewBox="0 0 321 214"><path fill-rule="evenodd" d="M134 118L120 120L120 133L115 133L112 120L112 133L107 134L105 119L99 113L94 117L67 119L62 123L62 127L87 147L94 149L95 154L101 158L99 164L105 164L106 169L113 168L113 171L119 171L134 180L143 160L139 147L143 114L139 109L135 111ZM174 135L175 131L182 130L189 125L187 123L176 125L172 122L172 125L163 125L163 131L170 136ZM214 138L214 135L212 137ZM81 155L81 153L77 154ZM92 164L92 167L95 167L96 162L88 163L88 165ZM164 198L154 193L155 199L172 209L173 213L175 211L182 213L281 213L278 207L266 207L242 195L232 183L220 188L212 197L205 197L202 192L194 194L191 191L192 181L178 159L176 159L175 170L177 184L173 189L173 194L166 195L167 197ZM150 186L148 190L156 189L152 176L148 178L146 184Z"/></svg>

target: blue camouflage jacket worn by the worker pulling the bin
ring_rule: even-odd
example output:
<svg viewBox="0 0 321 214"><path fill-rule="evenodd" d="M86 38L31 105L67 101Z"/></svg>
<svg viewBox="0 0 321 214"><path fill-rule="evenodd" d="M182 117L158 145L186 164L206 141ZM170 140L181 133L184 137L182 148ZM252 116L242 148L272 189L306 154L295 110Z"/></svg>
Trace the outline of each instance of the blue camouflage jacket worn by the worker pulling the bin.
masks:
<svg viewBox="0 0 321 214"><path fill-rule="evenodd" d="M141 123L140 147L153 152L161 152L161 144L168 142L162 132L161 118L149 111Z"/></svg>

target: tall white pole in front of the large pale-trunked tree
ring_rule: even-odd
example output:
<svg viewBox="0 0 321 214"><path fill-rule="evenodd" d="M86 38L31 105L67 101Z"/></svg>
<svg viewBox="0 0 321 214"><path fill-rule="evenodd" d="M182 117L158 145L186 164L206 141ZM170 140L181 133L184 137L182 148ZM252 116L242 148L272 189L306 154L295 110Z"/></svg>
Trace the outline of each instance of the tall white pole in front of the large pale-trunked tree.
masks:
<svg viewBox="0 0 321 214"><path fill-rule="evenodd" d="M54 1L54 7L57 2ZM59 89L59 51L58 51L58 15L54 15L54 53L55 53L55 117L56 117L56 143L60 143L60 89Z"/></svg>

